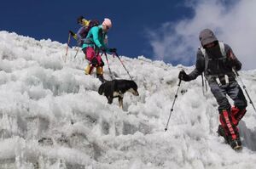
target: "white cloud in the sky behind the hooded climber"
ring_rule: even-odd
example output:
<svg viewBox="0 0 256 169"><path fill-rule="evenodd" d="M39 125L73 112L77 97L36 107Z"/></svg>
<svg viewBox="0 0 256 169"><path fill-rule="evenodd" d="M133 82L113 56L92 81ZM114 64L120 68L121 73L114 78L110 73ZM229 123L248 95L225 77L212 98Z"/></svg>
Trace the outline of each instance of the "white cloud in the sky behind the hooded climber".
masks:
<svg viewBox="0 0 256 169"><path fill-rule="evenodd" d="M163 24L157 31L148 31L154 59L166 62L195 64L195 54L200 45L199 32L210 28L218 40L230 44L243 69L256 68L256 1L207 0L193 1L189 8L192 18Z"/></svg>

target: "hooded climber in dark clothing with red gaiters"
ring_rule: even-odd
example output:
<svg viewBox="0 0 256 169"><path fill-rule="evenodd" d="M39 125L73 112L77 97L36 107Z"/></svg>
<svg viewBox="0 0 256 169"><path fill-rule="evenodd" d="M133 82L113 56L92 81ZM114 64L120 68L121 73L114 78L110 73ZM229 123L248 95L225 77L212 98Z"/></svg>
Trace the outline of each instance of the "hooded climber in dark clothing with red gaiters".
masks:
<svg viewBox="0 0 256 169"><path fill-rule="evenodd" d="M212 94L218 102L220 121L218 135L224 137L225 142L230 144L232 149L241 149L237 125L247 111L247 99L236 82L236 72L241 70L241 62L230 46L218 41L211 30L201 31L199 40L201 47L197 51L195 70L189 75L181 70L178 78L189 82L204 73ZM233 99L234 106L230 105L226 95Z"/></svg>

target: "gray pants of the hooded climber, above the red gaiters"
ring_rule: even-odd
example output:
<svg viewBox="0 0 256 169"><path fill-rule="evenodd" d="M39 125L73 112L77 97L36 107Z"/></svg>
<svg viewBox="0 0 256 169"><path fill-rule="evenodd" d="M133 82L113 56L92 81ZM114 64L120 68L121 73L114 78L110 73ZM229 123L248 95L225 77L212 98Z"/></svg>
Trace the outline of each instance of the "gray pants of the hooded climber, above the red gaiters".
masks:
<svg viewBox="0 0 256 169"><path fill-rule="evenodd" d="M234 104L238 108L246 108L247 100L242 93L241 87L236 81L229 84L219 86L217 82L209 82L212 94L218 102L218 110L230 110L231 105L226 95L229 95L234 100Z"/></svg>

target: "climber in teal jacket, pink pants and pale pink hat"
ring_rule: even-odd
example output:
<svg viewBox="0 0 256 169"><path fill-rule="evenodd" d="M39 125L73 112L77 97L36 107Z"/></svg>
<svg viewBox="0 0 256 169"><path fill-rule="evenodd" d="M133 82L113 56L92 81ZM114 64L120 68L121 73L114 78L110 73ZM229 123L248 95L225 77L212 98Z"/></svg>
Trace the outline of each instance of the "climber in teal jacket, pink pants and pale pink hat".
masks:
<svg viewBox="0 0 256 169"><path fill-rule="evenodd" d="M90 75L92 70L96 67L96 76L104 82L103 78L103 61L100 52L106 54L106 52L115 53L116 48L107 48L108 30L112 27L112 22L108 18L104 19L102 25L95 25L90 28L87 37L84 39L82 50L85 54L85 59L90 63L84 69L86 75Z"/></svg>

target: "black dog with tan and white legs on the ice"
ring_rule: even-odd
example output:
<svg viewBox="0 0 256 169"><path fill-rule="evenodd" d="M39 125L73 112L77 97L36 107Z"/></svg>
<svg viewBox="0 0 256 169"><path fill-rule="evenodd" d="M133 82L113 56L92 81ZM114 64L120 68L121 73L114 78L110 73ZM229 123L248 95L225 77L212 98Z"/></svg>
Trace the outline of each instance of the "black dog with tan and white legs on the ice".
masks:
<svg viewBox="0 0 256 169"><path fill-rule="evenodd" d="M137 84L134 81L129 80L113 80L103 82L99 87L98 93L106 96L108 104L113 103L113 98L119 98L119 107L123 109L123 99L125 92L130 92L135 96L138 96Z"/></svg>

